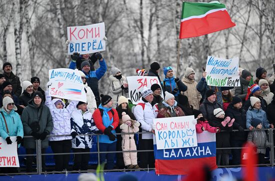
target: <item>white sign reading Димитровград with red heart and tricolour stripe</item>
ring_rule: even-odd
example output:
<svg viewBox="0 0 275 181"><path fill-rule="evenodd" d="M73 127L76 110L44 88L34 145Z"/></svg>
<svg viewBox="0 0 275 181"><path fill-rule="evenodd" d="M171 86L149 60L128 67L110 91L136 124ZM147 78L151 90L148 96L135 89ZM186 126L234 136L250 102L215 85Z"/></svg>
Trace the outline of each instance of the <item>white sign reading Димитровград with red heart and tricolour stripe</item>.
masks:
<svg viewBox="0 0 275 181"><path fill-rule="evenodd" d="M86 102L84 84L78 70L56 68L48 71L50 96Z"/></svg>

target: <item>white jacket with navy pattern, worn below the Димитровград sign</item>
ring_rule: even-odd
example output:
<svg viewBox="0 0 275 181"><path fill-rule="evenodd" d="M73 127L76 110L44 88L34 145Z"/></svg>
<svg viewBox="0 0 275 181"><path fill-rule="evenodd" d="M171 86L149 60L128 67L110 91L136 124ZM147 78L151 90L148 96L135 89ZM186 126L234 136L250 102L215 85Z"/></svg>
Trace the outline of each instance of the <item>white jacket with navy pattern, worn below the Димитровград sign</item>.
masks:
<svg viewBox="0 0 275 181"><path fill-rule="evenodd" d="M88 111L82 113L82 110L75 108L70 118L71 130L77 134L91 134L97 133L98 129L92 119L92 114ZM92 136L91 135L76 135L71 139L72 148L91 148Z"/></svg>

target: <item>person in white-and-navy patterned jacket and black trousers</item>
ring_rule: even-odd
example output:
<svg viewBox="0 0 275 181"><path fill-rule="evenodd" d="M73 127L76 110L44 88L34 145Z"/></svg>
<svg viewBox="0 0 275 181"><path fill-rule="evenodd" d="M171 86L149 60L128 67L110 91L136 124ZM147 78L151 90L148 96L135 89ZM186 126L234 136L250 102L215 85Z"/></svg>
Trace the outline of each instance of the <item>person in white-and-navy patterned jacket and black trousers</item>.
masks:
<svg viewBox="0 0 275 181"><path fill-rule="evenodd" d="M89 154L85 152L90 151L92 135L76 135L99 133L100 131L93 122L92 114L87 110L86 102L79 101L70 116L72 150L73 152L83 152L83 154L74 154L72 168L73 170L87 170Z"/></svg>

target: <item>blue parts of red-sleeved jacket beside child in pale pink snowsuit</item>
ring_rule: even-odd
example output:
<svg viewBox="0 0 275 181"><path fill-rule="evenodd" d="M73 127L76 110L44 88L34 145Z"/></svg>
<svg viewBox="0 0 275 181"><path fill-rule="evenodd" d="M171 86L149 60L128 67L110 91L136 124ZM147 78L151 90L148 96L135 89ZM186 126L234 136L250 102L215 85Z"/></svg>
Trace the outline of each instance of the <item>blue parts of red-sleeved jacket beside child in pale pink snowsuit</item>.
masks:
<svg viewBox="0 0 275 181"><path fill-rule="evenodd" d="M110 118L109 118L109 115L108 115L108 113L107 113L108 111L110 111L110 110L112 109L112 107L109 107L109 108L103 107L103 106L101 105L101 103L100 103L99 106L98 106L98 108L103 109L103 115L102 115L102 123L103 123L103 125L104 125L105 127L108 127L109 125L112 126L111 124L112 124L112 122L113 122L113 117L110 119ZM111 130L111 133L112 133L113 135L115 135L115 130L112 129L112 130ZM116 138L115 138L114 141L116 141ZM114 142L114 141L111 141L111 140L109 139L109 137L108 137L107 135L105 135L105 134L100 134L100 135L99 135L99 142L112 143L112 142Z"/></svg>

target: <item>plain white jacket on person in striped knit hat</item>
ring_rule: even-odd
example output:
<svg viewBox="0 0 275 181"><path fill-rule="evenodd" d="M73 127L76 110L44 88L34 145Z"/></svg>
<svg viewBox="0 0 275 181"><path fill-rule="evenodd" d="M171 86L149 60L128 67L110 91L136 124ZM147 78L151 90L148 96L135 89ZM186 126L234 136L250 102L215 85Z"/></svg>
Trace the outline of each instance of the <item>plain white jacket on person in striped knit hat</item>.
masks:
<svg viewBox="0 0 275 181"><path fill-rule="evenodd" d="M144 109L142 105L144 104ZM138 122L141 123L142 132L149 132L152 129L153 119L156 118L158 109L156 104L151 105L149 102L140 100L134 107L133 114ZM152 139L153 134L142 134L142 139Z"/></svg>

